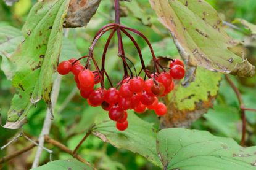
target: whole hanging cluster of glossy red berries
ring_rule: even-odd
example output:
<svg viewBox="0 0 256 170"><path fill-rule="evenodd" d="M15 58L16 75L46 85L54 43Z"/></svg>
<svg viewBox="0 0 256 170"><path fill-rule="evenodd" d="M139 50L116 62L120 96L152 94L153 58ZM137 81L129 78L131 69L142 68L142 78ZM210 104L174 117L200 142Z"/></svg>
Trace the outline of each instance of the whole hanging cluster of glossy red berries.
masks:
<svg viewBox="0 0 256 170"><path fill-rule="evenodd" d="M181 60L171 60L170 72L156 72L144 80L142 77L125 77L120 82L120 88L109 88L106 90L100 87L94 90L94 85L101 82L101 74L98 71L85 69L80 61L70 59L62 61L57 71L61 75L70 71L75 75L77 87L80 95L87 99L90 106L101 106L109 112L109 118L116 122L116 127L120 131L128 128L127 112L133 109L141 114L146 108L154 110L159 116L167 113L167 107L159 102L157 97L165 96L174 88L173 79L183 79L185 74L184 64Z"/></svg>

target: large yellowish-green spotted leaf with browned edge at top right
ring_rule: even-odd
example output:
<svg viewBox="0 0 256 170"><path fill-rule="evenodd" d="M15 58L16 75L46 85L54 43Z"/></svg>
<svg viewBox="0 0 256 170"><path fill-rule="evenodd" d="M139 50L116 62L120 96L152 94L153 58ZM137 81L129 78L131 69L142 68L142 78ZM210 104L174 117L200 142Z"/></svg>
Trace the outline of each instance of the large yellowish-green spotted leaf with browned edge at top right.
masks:
<svg viewBox="0 0 256 170"><path fill-rule="evenodd" d="M204 0L150 0L160 22L171 32L189 66L252 76L255 67L232 48L237 44L222 28L215 9ZM192 71L192 69L191 69ZM191 79L191 77L190 77Z"/></svg>

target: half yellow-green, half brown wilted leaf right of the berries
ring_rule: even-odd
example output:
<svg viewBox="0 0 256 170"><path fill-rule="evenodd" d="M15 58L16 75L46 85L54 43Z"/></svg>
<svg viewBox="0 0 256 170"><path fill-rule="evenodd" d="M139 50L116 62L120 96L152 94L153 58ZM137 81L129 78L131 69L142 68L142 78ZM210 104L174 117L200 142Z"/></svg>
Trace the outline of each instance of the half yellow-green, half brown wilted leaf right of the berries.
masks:
<svg viewBox="0 0 256 170"><path fill-rule="evenodd" d="M213 106L221 74L197 68L197 77L188 87L180 82L175 85L165 102L168 113L161 118L161 125L166 127L189 127Z"/></svg>

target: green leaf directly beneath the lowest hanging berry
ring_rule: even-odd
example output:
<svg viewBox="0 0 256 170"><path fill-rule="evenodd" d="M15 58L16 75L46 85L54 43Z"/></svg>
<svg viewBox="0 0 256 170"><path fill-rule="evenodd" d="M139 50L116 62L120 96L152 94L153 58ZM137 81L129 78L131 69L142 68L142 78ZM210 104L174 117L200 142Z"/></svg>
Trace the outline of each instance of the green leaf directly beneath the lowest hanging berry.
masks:
<svg viewBox="0 0 256 170"><path fill-rule="evenodd" d="M109 142L114 147L139 153L157 166L161 166L155 148L156 130L153 126L133 112L128 113L129 126L125 131L118 131L115 122L109 120L107 113L98 114L93 134Z"/></svg>

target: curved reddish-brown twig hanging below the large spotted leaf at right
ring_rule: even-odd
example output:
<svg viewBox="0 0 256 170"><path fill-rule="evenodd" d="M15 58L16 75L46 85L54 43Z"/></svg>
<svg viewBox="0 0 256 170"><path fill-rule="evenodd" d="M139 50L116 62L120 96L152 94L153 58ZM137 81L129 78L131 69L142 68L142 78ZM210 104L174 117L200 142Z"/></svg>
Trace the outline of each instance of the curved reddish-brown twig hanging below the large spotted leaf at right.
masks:
<svg viewBox="0 0 256 170"><path fill-rule="evenodd" d="M238 102L239 102L239 107L240 107L240 114L242 118L242 139L241 139L241 145L244 146L244 142L246 141L246 112L244 109L244 102L242 101L242 95L236 85L233 83L233 81L229 78L228 75L225 75L226 80L228 81L229 85L231 88L234 90L234 93L236 93Z"/></svg>

